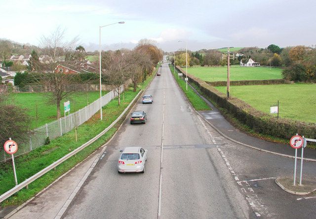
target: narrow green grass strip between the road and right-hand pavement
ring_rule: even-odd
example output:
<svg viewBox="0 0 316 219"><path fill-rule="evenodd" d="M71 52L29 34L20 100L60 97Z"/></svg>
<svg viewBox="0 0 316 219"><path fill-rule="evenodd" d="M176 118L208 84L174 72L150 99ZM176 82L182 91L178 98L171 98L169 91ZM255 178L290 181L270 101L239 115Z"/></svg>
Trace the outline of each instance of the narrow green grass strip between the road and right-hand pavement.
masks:
<svg viewBox="0 0 316 219"><path fill-rule="evenodd" d="M192 106L196 110L211 110L211 108L205 103L205 101L201 99L190 86L188 86L188 90L186 90L186 82L180 78L178 79L177 72L174 72L174 68L170 64L169 68L174 76L174 79L177 81L184 94L186 94Z"/></svg>

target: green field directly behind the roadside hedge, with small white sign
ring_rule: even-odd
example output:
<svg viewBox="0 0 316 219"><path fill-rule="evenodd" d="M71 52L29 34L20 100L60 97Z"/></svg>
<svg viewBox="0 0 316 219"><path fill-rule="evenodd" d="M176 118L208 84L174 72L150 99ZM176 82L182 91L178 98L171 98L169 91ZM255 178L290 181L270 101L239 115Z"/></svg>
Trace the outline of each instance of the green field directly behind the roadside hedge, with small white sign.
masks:
<svg viewBox="0 0 316 219"><path fill-rule="evenodd" d="M226 87L216 89L226 94ZM279 117L316 123L316 84L231 86L230 94L265 113L279 100Z"/></svg>

